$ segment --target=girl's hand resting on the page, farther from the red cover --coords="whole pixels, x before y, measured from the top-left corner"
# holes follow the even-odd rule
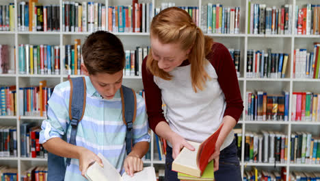
[[[188,143],[185,138],[176,134],[175,132],[170,135],[170,143],[172,144],[172,158],[176,159],[176,156],[180,153],[183,147],[187,147],[191,151],[194,151],[194,147]]]

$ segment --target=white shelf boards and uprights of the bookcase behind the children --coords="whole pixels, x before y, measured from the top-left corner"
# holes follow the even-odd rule
[[[78,1],[81,2],[82,0]],[[188,5],[188,6],[198,6],[206,5],[207,3],[222,3],[226,7],[236,7],[241,8],[240,15],[240,27],[239,34],[206,34],[211,36],[215,41],[223,43],[227,48],[240,49],[241,51],[241,76],[238,78],[239,86],[241,89],[241,95],[243,97],[243,104],[246,108],[245,93],[247,90],[264,90],[267,93],[281,93],[281,90],[289,91],[289,105],[292,105],[291,95],[296,91],[312,91],[312,93],[320,93],[320,79],[296,79],[293,77],[293,53],[295,49],[305,49],[308,51],[312,50],[312,43],[320,41],[320,35],[297,35],[297,34],[248,34],[248,2],[251,3],[266,3],[267,6],[272,7],[276,5],[277,8],[280,5],[291,4],[293,5],[293,12],[295,12],[295,5],[298,5],[299,8],[306,3],[319,4],[318,0],[226,0],[226,1],[217,1],[217,0],[198,0],[198,1],[183,1],[183,0],[172,0],[172,1],[139,1],[143,2],[152,2],[152,10],[158,8],[163,2],[174,2],[176,5]],[[21,0],[14,0],[14,5],[17,7],[18,3]],[[60,6],[60,20],[62,18],[62,0],[39,0],[40,3],[45,5],[56,4]],[[108,5],[131,5],[132,1],[130,0],[95,0],[94,2],[104,3],[106,7]],[[5,0],[0,0],[0,5],[8,4]],[[154,12],[154,11],[152,11]],[[17,8],[15,9],[15,14],[17,14]],[[201,8],[199,8],[199,19],[201,18]],[[108,21],[108,14],[106,14],[106,21]],[[292,17],[295,19],[295,16]],[[293,21],[294,22],[294,21]],[[294,31],[294,23],[291,24],[292,31]],[[17,27],[17,17],[15,16],[15,27]],[[62,27],[62,21],[60,21],[60,27]],[[64,47],[64,45],[70,45],[73,43],[73,40],[76,38],[81,39],[81,43],[84,42],[86,36],[90,32],[64,32],[60,28],[59,32],[21,32],[17,29],[14,29],[12,32],[3,32],[0,31],[0,44],[10,45],[10,69],[14,69],[14,60],[16,60],[16,65],[18,65],[18,55],[14,58],[14,46],[18,47],[19,44],[50,44],[50,45],[59,45]],[[135,49],[135,47],[146,47],[149,45],[149,34],[148,33],[114,33],[121,40],[124,45],[124,49]],[[275,52],[289,53],[289,62],[287,64],[287,69],[285,73],[285,78],[250,78],[246,76],[246,67],[247,67],[247,51],[248,49],[267,49],[271,48]],[[61,52],[60,52],[61,53]],[[60,61],[61,65],[63,62],[64,55],[61,53]],[[63,66],[61,66],[63,67]],[[61,69],[63,70],[63,68]],[[79,75],[70,75],[70,77],[77,77]],[[0,84],[5,86],[16,85],[18,90],[19,87],[23,86],[32,86],[38,85],[40,80],[47,80],[49,86],[54,86],[60,82],[68,80],[69,75],[21,75],[18,74],[18,66],[16,66],[15,73],[0,74]],[[124,76],[123,84],[134,88],[136,91],[142,90],[142,77],[141,76]],[[17,97],[21,99],[21,97]],[[18,108],[19,110],[20,108]],[[17,110],[17,113],[19,112]],[[310,131],[312,136],[319,136],[320,132],[320,122],[297,122],[291,121],[291,106],[289,106],[289,121],[249,121],[248,117],[245,115],[245,109],[237,128],[242,129],[242,134],[245,132],[256,130],[271,130],[271,131],[280,131],[291,137],[291,132],[297,131]],[[44,117],[26,117],[21,115],[16,116],[0,116],[0,125],[5,126],[16,126],[17,128],[17,140],[18,140],[18,157],[16,158],[0,158],[0,165],[8,165],[18,169],[18,175],[21,176],[21,173],[34,165],[46,165],[45,158],[23,158],[21,157],[21,145],[20,145],[20,127],[19,125],[23,121],[34,121],[40,123]],[[151,132],[152,141],[150,143],[151,147],[151,158],[150,160],[145,160],[146,165],[152,165],[155,167],[164,168],[165,162],[163,160],[157,160],[155,153],[157,152],[157,147],[155,145],[155,136]],[[290,141],[290,140],[289,140]],[[290,152],[288,150],[288,156]],[[254,162],[245,162],[244,161],[244,141],[242,141],[242,150],[241,150],[241,173],[248,168],[255,166],[263,169],[274,169],[274,163],[254,163]],[[289,157],[288,157],[289,158]],[[320,169],[320,165],[306,165],[306,164],[292,164],[290,159],[286,163],[276,164],[276,169],[281,169],[281,167],[286,167],[286,172],[289,173],[294,170],[308,171]],[[288,174],[289,175],[289,174]],[[288,179],[287,179],[288,180]]]

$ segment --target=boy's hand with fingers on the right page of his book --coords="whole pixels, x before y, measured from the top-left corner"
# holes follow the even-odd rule
[[[144,162],[138,157],[133,155],[126,156],[124,160],[124,170],[126,174],[133,177],[133,173],[137,171],[142,171],[144,169]]]

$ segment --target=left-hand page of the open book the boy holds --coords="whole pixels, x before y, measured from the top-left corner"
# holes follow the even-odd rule
[[[94,164],[88,168],[85,177],[91,181],[122,181],[114,165],[111,165],[102,154],[99,153],[98,157],[103,161],[103,167],[98,165],[97,162],[94,162]]]

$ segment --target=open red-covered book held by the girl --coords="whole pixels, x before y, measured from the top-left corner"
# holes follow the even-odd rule
[[[215,143],[220,134],[223,123],[209,138],[202,143],[188,141],[196,149],[194,152],[186,147],[182,149],[180,154],[172,162],[172,170],[185,173],[189,176],[201,177],[210,156],[215,152]]]

